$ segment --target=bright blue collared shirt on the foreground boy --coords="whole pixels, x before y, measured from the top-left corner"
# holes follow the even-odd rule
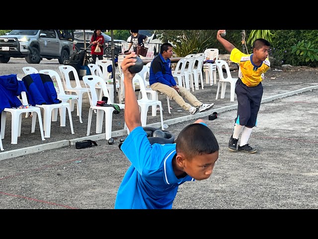
[[[132,163],[117,192],[115,209],[171,209],[178,186],[194,181],[177,178],[172,168],[175,143],[150,144],[142,126],[127,136],[121,150]]]

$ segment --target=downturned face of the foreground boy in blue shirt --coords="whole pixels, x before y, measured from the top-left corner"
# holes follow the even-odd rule
[[[211,176],[219,151],[197,155],[191,160],[183,160],[183,170],[195,180],[207,179]]]

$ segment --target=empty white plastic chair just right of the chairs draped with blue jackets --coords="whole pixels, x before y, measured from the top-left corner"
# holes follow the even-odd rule
[[[56,80],[56,83],[58,85],[58,91],[59,91],[59,92],[57,92],[58,99],[62,102],[70,103],[71,111],[72,111],[72,108],[74,109],[74,101],[76,101],[76,103],[77,103],[77,108],[81,108],[81,105],[79,105],[79,96],[78,95],[65,94],[65,90],[64,90],[63,83],[62,83],[62,80],[61,80],[59,73],[57,73],[54,70],[40,70],[39,73],[47,74],[52,78],[52,80],[53,79]],[[60,111],[60,116],[61,115],[66,116],[66,108],[60,108],[59,111]],[[61,111],[63,111],[63,112],[61,112]],[[79,110],[79,112],[81,113],[81,110]],[[57,117],[58,117],[58,111],[53,110],[52,121],[56,121]],[[65,125],[65,117],[63,120],[64,120],[64,122],[62,124]],[[81,114],[79,115],[79,122],[82,123]]]

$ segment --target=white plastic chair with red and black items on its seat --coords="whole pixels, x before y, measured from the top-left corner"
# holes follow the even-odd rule
[[[83,76],[83,82],[87,89],[88,99],[89,99],[89,113],[88,113],[88,123],[87,123],[87,136],[90,133],[90,125],[93,112],[96,111],[96,133],[101,133],[102,125],[103,125],[103,118],[105,113],[105,139],[111,138],[111,128],[112,128],[112,119],[113,119],[113,111],[115,109],[113,107],[103,107],[103,106],[96,106],[97,104],[97,93],[96,93],[96,85],[99,85],[102,89],[103,95],[108,98],[107,104],[113,104],[110,101],[110,97],[107,91],[106,82],[103,78],[96,75],[91,76]],[[89,90],[89,91],[88,91]],[[119,106],[120,109],[125,109],[124,104],[116,104]],[[126,123],[124,128],[126,127]]]

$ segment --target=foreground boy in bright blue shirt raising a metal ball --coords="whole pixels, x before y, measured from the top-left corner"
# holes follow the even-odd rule
[[[175,143],[151,145],[141,126],[139,106],[132,85],[136,53],[122,62],[125,84],[125,122],[130,131],[121,150],[132,163],[115,201],[115,209],[172,209],[178,186],[211,176],[219,145],[202,119],[186,126]],[[190,136],[190,137],[189,137]]]

